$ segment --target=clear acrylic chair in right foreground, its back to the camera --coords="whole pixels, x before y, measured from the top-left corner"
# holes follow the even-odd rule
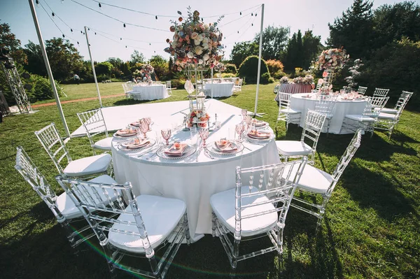
[[[283,229],[290,201],[306,164],[302,160],[237,167],[236,187],[210,198],[213,236],[218,235],[230,265],[267,252],[283,252]],[[267,236],[271,244],[258,251],[244,251],[241,242]]]

